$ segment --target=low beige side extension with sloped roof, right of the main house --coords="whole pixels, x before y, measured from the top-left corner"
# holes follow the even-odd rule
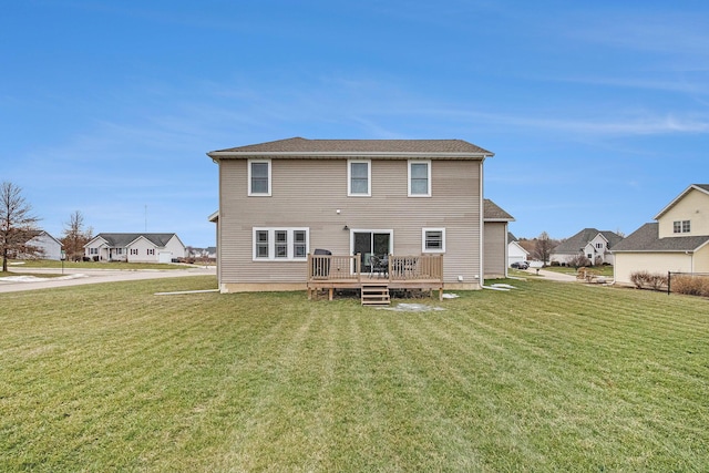
[[[507,226],[514,217],[486,198],[483,202],[485,279],[507,277]]]

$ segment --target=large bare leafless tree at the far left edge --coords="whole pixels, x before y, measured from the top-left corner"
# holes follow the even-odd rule
[[[2,271],[8,270],[11,255],[39,255],[41,249],[28,241],[37,235],[40,219],[32,214],[32,206],[22,197],[22,189],[10,183],[0,185],[0,253]]]

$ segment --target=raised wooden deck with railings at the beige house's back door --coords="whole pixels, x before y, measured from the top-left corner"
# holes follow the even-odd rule
[[[362,284],[387,282],[389,289],[438,290],[443,298],[443,255],[389,255],[386,266],[362,271],[361,255],[308,255],[308,299],[328,290],[362,289]]]

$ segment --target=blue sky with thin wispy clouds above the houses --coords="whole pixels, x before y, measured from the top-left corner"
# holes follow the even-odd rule
[[[292,136],[475,143],[518,237],[709,183],[705,1],[23,0],[0,60],[0,181],[58,237],[214,245],[205,153]]]

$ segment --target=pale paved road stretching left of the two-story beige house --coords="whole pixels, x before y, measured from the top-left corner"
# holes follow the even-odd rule
[[[28,274],[61,274],[61,269],[22,268]],[[216,275],[214,266],[191,266],[185,269],[64,269],[64,276],[42,278],[28,276],[10,276],[0,278],[0,292],[20,290],[49,289],[55,287],[79,286],[84,284],[130,281],[138,279],[178,278],[186,276]]]

